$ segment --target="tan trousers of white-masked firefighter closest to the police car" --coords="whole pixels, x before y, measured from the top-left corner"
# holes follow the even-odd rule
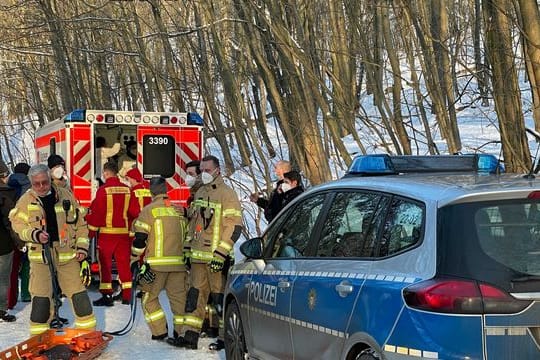
[[[190,286],[186,302],[196,304],[195,310],[186,312],[186,330],[200,332],[206,315],[208,296],[223,294],[225,283],[221,272],[212,272],[206,263],[192,263]],[[216,306],[210,304],[209,306]]]

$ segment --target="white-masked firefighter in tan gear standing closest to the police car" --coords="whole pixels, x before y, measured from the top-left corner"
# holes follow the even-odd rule
[[[224,276],[222,271],[234,242],[242,231],[242,212],[238,196],[221,177],[219,160],[206,156],[200,164],[203,186],[189,208],[189,241],[184,246],[191,262],[190,289],[186,298],[186,332],[167,342],[197,349],[208,296],[221,318]],[[211,344],[212,345],[212,344]],[[211,346],[219,350],[221,340]]]

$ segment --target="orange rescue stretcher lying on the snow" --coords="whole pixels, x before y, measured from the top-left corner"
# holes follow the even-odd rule
[[[112,338],[101,331],[50,329],[0,352],[0,360],[95,359]]]

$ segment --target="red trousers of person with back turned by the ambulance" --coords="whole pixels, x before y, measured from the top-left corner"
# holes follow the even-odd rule
[[[98,239],[99,291],[102,294],[113,293],[112,260],[116,262],[118,278],[122,285],[122,300],[131,300],[131,241],[128,234],[100,234]]]

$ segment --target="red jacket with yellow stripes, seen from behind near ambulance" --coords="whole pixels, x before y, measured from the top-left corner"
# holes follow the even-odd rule
[[[110,177],[99,187],[90,204],[86,221],[91,232],[127,235],[130,189],[118,177]]]

